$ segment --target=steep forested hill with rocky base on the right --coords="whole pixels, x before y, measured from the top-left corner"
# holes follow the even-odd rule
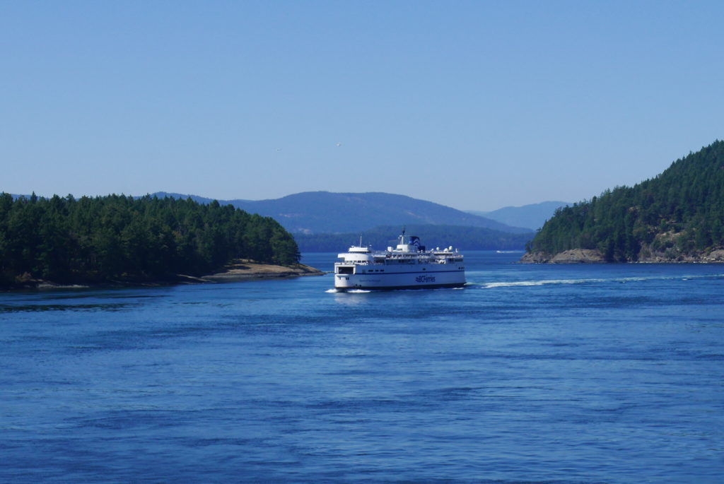
[[[724,142],[560,208],[523,262],[724,262]]]

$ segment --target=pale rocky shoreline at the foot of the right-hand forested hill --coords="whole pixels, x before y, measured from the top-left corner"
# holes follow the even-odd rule
[[[520,263],[524,264],[581,264],[607,263],[602,253],[595,249],[571,249],[548,254],[546,252],[527,252]],[[652,252],[642,250],[638,260],[632,263],[724,263],[724,249],[715,249],[699,253]]]

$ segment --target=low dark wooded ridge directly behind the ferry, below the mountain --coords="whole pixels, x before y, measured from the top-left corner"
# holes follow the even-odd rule
[[[460,250],[523,250],[533,232],[511,234],[484,227],[450,225],[408,225],[408,235],[417,235],[428,249],[449,247]],[[371,245],[375,250],[397,244],[400,226],[377,226],[348,234],[294,234],[300,252],[344,252],[350,245]]]

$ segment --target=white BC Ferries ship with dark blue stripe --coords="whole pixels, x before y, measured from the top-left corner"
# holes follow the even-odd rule
[[[465,285],[463,255],[451,247],[425,250],[419,237],[405,239],[397,247],[374,252],[370,247],[353,245],[337,255],[334,263],[334,289],[424,289]]]

